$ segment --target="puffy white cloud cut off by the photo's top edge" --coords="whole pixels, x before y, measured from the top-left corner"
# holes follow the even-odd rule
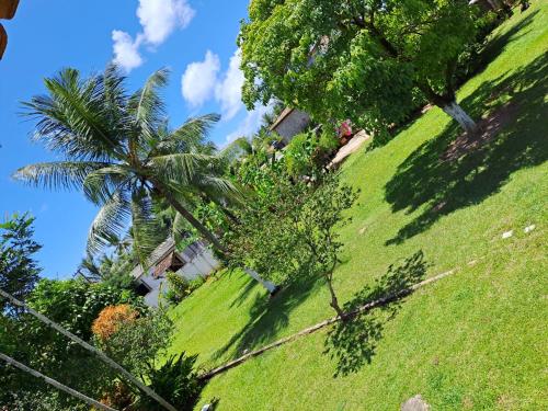
[[[186,0],[139,0],[137,8],[145,41],[152,45],[163,43],[176,27],[186,27],[195,14]]]

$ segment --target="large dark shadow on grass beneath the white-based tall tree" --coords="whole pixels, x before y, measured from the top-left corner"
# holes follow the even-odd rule
[[[479,118],[482,132],[463,135],[452,122],[397,169],[385,186],[392,212],[419,208],[419,217],[387,244],[401,243],[459,208],[496,193],[510,175],[548,159],[548,56],[511,75],[486,81],[461,105]]]

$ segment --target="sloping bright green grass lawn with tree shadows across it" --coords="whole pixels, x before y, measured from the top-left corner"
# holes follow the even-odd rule
[[[516,11],[458,98],[494,138],[466,148],[433,109],[343,167],[361,196],[342,231],[341,301],[418,251],[426,276],[459,270],[368,315],[336,344],[323,330],[213,378],[199,404],[398,410],[421,393],[433,410],[548,410],[548,2]],[[209,368],[332,315],[321,283],[269,300],[244,275],[225,274],[172,310],[171,350]]]

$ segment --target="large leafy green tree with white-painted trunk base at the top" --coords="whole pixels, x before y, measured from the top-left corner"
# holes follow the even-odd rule
[[[403,121],[418,91],[467,132],[455,71],[476,36],[466,0],[251,0],[239,46],[248,107],[272,98],[374,132]]]

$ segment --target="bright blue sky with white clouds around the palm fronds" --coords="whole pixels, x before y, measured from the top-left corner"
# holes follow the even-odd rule
[[[116,59],[129,88],[160,67],[171,69],[164,96],[173,126],[187,116],[220,113],[212,139],[249,135],[264,112],[240,102],[236,46],[248,0],[32,0],[2,21],[9,44],[0,60],[0,218],[14,212],[36,217],[43,275],[71,275],[84,252],[95,208],[78,192],[47,192],[11,180],[19,167],[55,157],[28,136],[33,123],[18,115],[21,101],[44,92],[42,79],[62,67],[83,73]]]

